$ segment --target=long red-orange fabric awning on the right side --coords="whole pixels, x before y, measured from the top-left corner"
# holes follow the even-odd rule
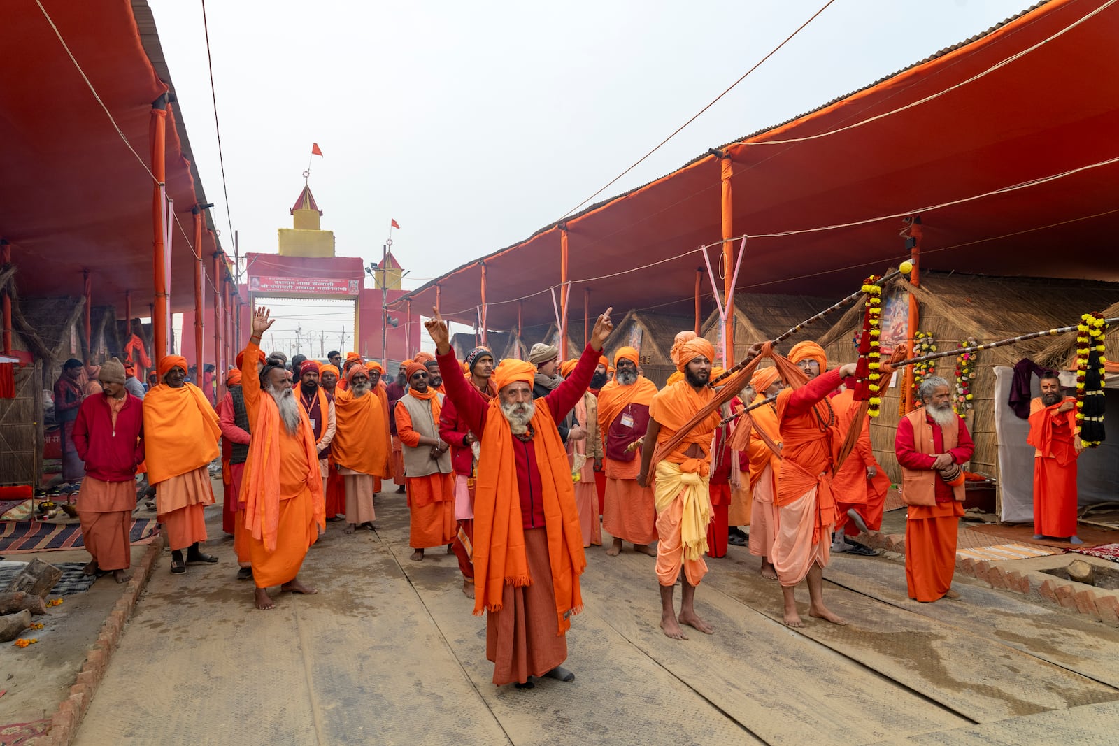
[[[1104,83],[1119,79],[1119,4],[1104,6],[1051,0],[721,149],[734,161],[734,230],[752,236],[736,289],[844,295],[908,255],[900,217],[848,224],[913,213],[928,268],[1119,280],[1119,252],[1103,248],[1119,232],[1119,162],[1100,166],[1119,159],[1119,96]],[[692,249],[721,239],[718,158],[565,223],[572,298],[590,287],[595,312],[688,313],[704,265]],[[846,227],[812,230],[835,225]],[[548,226],[483,257],[491,329],[515,328],[526,295],[526,327],[554,319],[558,234]],[[707,251],[717,265],[718,246]],[[405,299],[427,312],[438,283],[443,315],[472,323],[479,274],[472,262]]]

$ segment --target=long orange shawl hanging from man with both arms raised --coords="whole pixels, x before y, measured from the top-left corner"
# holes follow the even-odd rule
[[[544,488],[544,526],[548,537],[552,587],[560,634],[571,626],[570,614],[583,611],[579,576],[586,568],[583,529],[575,508],[567,451],[560,440],[552,410],[536,399],[533,415],[536,468]],[[474,492],[474,614],[501,611],[505,584],[526,586],[533,578],[525,558],[525,533],[517,494],[517,463],[513,431],[499,399],[490,399],[478,462]]]

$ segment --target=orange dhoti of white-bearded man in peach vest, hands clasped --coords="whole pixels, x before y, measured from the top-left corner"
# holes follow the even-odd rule
[[[905,585],[910,598],[937,601],[952,586],[963,503],[910,506],[905,521]]]

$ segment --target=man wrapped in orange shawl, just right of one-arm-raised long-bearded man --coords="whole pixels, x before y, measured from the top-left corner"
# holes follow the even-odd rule
[[[347,372],[349,388],[335,396],[335,440],[330,444],[335,465],[346,481],[346,530],[374,529],[374,479],[387,478],[391,443],[388,412],[373,389],[369,370],[352,366]]]

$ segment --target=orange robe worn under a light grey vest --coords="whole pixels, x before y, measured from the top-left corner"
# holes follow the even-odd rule
[[[434,389],[429,391],[435,394]],[[405,397],[413,394],[406,394]],[[440,397],[432,396],[432,426],[436,432],[441,410]],[[420,433],[412,427],[412,414],[401,402],[396,403],[396,433],[406,448],[429,447],[420,445]],[[458,533],[454,520],[454,472],[435,472],[405,479],[408,488],[408,546],[413,549],[429,549],[454,541]]]

